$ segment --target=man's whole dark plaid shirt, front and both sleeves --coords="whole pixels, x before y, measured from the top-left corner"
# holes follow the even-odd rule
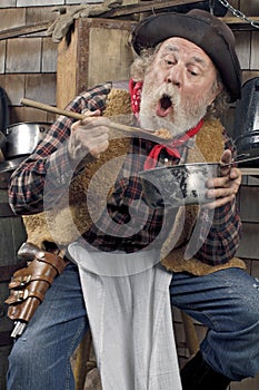
[[[110,89],[109,82],[94,87],[78,96],[67,109],[77,113],[86,108],[103,110]],[[34,153],[13,173],[9,199],[17,214],[42,212],[47,203],[57,202],[62,187],[68,185],[73,169],[68,158],[66,140],[70,136],[73,121],[68,117],[59,117]],[[180,163],[195,140],[190,139],[188,143],[179,148],[182,156]],[[142,199],[138,175],[143,169],[143,163],[153,145],[152,140],[131,139],[131,146],[114,184],[114,192],[109,197],[107,212],[82,235],[82,242],[87,241],[93,247],[106,252],[131,253],[146,247],[161,247],[173,225],[176,209],[149,208]],[[227,136],[226,148],[232,148]],[[173,164],[179,164],[179,160],[175,159]],[[196,232],[196,257],[207,264],[219,265],[228,262],[236,253],[240,241],[240,218],[235,202],[213,211],[212,225],[209,213],[203,209],[199,215],[202,223],[198,235]]]

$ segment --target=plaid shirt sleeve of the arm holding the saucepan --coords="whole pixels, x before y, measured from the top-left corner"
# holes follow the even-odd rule
[[[227,133],[223,135],[226,139],[225,148],[230,149],[236,156],[236,147],[232,140]],[[199,250],[196,257],[210,265],[227,263],[235,256],[241,237],[241,221],[236,199],[216,208],[213,216],[210,215],[208,209],[205,209],[200,218],[203,223],[197,240]],[[210,228],[207,224],[209,226],[211,224]]]

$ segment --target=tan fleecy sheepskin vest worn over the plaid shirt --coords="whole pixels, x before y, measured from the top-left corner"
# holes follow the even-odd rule
[[[110,116],[129,113],[131,113],[129,94],[124,90],[112,89],[108,96],[103,115]],[[123,162],[123,156],[127,154],[129,147],[130,138],[121,138],[121,134],[117,135],[116,131],[112,133],[109,148],[101,154],[100,158],[89,164],[87,169],[72,181],[69,189],[69,204],[67,198],[63,197],[54,209],[23,216],[28,242],[41,248],[46,248],[47,243],[57,243],[58,245],[66,246],[90,228],[92,214],[90,216],[86,202],[90,182],[96,174],[99,175],[97,181],[99,188],[94,187],[94,199],[92,199],[92,204],[98,204],[98,208],[101,209],[106,206],[103,193],[109,194],[110,185],[114,183]],[[213,148],[211,148],[211,139],[213,139]],[[206,121],[197,135],[195,148],[189,152],[188,162],[219,162],[222,150],[223,137],[221,124],[219,120]],[[100,174],[100,168],[103,164],[114,158],[118,158],[120,163],[116,164],[116,167],[112,167],[109,173],[106,170],[103,175]],[[89,201],[91,199],[88,198],[88,203]],[[183,207],[179,208],[172,231],[162,247],[162,265],[170,271],[188,271],[196,275],[210,273],[228,266],[245,267],[243,262],[239,259],[233,259],[229,263],[217,267],[203,264],[195,257],[185,259],[186,243],[191,235],[198,211],[198,206],[187,206],[185,209]],[[169,252],[167,247],[170,238],[176,234],[178,223],[180,223],[183,215],[185,228],[176,248]]]

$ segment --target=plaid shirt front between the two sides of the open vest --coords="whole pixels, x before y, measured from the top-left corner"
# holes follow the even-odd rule
[[[98,224],[82,236],[81,243],[104,252],[137,252],[162,244],[163,211],[151,209],[142,198],[139,172],[143,169],[151,142],[132,138],[114,189]],[[163,240],[166,237],[163,236]]]

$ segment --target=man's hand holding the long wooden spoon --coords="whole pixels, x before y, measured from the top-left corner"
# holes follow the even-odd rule
[[[100,117],[100,111],[88,111],[86,119],[76,121],[71,127],[68,142],[69,158],[79,165],[82,159],[99,158],[109,146],[109,119]]]

